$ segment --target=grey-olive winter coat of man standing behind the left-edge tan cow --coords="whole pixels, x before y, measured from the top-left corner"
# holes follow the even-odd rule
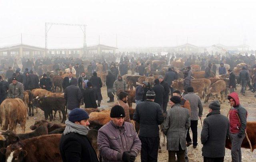
[[[23,99],[24,97],[24,88],[23,88],[23,84],[20,82],[17,82],[15,85],[13,83],[11,83],[9,85],[9,89],[8,89],[8,94],[7,97],[8,98],[20,98]]]

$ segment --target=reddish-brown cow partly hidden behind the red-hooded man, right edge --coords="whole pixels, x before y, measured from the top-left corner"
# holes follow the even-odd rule
[[[247,122],[246,123],[246,132],[248,135],[248,138],[252,144],[252,152],[254,149],[256,149],[256,122]],[[244,138],[242,145],[242,148],[250,148],[250,145],[246,139]],[[231,149],[231,141],[230,139],[226,139],[226,148]]]

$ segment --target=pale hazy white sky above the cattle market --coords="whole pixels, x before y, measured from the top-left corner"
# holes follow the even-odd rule
[[[87,44],[246,44],[256,49],[255,0],[0,0],[0,46],[44,47],[45,22],[87,25]],[[12,36],[12,37],[10,37]],[[6,38],[8,37],[8,38]],[[48,48],[82,47],[78,26],[52,26]]]

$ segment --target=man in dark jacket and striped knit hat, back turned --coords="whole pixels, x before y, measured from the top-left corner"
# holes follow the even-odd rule
[[[136,105],[133,115],[133,120],[140,124],[141,162],[157,162],[160,144],[158,125],[164,122],[164,117],[160,105],[154,102],[155,97],[155,92],[149,90],[146,94],[147,99]]]

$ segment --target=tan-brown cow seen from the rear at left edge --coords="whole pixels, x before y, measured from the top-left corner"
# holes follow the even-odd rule
[[[7,98],[0,106],[0,121],[2,130],[9,130],[16,132],[17,123],[22,128],[22,133],[25,132],[27,109],[24,102],[19,98]]]

